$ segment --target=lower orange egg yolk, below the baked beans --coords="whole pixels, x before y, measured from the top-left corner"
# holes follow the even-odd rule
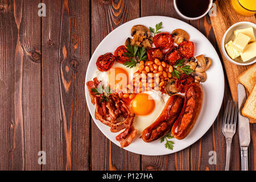
[[[131,101],[131,109],[137,115],[148,115],[155,109],[155,101],[150,95],[139,93]]]

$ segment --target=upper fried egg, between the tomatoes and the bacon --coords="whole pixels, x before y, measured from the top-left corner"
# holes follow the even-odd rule
[[[102,82],[102,85],[109,85],[112,90],[122,89],[133,79],[133,74],[138,71],[138,65],[134,68],[127,68],[125,65],[115,62],[107,72],[98,70],[94,72],[93,78],[97,77],[98,81]]]

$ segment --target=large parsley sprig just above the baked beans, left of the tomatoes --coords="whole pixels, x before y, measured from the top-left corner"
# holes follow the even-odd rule
[[[147,59],[146,49],[144,47],[139,48],[137,46],[128,44],[126,50],[127,52],[125,52],[125,55],[130,57],[130,59],[129,61],[123,63],[123,65],[125,65],[127,68],[136,67],[139,61]]]

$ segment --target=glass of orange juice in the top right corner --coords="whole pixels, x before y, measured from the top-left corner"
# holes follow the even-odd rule
[[[253,16],[256,13],[255,0],[231,0],[231,3],[237,13],[243,16]]]

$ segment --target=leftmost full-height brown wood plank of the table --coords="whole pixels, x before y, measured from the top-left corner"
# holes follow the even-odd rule
[[[0,170],[40,170],[39,1],[0,1]]]

